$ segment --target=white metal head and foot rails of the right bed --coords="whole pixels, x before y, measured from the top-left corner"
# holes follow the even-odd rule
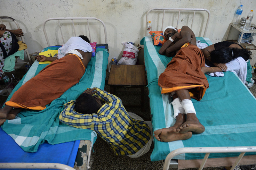
[[[179,17],[181,14],[181,11],[193,11],[193,18],[192,18],[192,22],[191,22],[191,29],[193,27],[193,22],[194,22],[194,16],[195,16],[195,11],[205,11],[208,13],[208,18],[207,18],[207,22],[206,22],[206,26],[205,26],[205,31],[203,36],[206,36],[207,33],[207,28],[209,25],[209,20],[210,20],[210,11],[207,9],[193,9],[193,8],[152,8],[149,11],[147,11],[146,14],[146,26],[147,23],[149,22],[149,13],[153,10],[162,10],[163,11],[163,16],[162,16],[162,26],[161,26],[161,30],[163,30],[163,23],[164,23],[164,18],[165,18],[165,11],[167,10],[171,10],[171,11],[178,11],[178,17],[177,17],[177,25],[176,27],[178,27],[179,24]],[[203,23],[202,23],[203,24]],[[145,28],[145,36],[147,36],[147,28]],[[172,152],[170,152],[165,159],[165,163],[164,163],[164,170],[171,168],[178,168],[178,160],[173,159],[174,156],[177,156],[179,154],[184,154],[184,153],[206,153],[205,157],[200,165],[199,170],[202,170],[210,153],[230,153],[230,152],[238,152],[240,153],[240,155],[238,156],[238,158],[235,160],[234,164],[231,167],[231,170],[233,170],[241,161],[241,159],[243,158],[243,155],[246,152],[256,152],[256,146],[241,146],[241,147],[184,147],[184,148],[179,148],[177,150],[174,150]]]

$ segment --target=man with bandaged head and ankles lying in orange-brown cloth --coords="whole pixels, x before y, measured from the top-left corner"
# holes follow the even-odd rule
[[[177,53],[159,76],[158,85],[162,87],[161,93],[170,94],[173,98],[171,103],[176,123],[172,127],[155,130],[154,136],[158,141],[171,142],[189,139],[192,132],[200,134],[205,131],[196,116],[191,97],[201,100],[209,84],[201,71],[205,59],[197,47],[193,31],[183,26],[180,33],[177,33],[176,28],[167,28],[163,34],[169,40],[163,44],[159,53],[167,56],[174,51]]]

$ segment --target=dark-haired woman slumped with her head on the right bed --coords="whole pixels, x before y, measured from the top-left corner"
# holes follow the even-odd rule
[[[243,49],[240,44],[229,41],[218,42],[206,47],[202,52],[205,56],[205,63],[209,66],[202,68],[204,73],[210,73],[210,76],[224,76],[223,73],[218,72],[232,71],[248,87],[253,85],[249,63],[252,53]]]

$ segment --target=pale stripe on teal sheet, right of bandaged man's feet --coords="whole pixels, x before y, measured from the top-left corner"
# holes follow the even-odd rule
[[[201,134],[193,134],[197,136],[203,135],[224,135],[232,133],[249,133],[256,131],[256,123],[241,124],[241,125],[219,125],[219,126],[205,126],[205,131]],[[225,129],[225,130],[223,130]]]

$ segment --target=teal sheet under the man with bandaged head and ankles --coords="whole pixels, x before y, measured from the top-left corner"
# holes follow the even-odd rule
[[[211,45],[208,38],[199,37],[202,43]],[[158,77],[172,59],[158,53],[160,46],[154,46],[151,37],[141,40],[144,45],[145,67],[149,88],[153,131],[173,126],[173,109],[170,97],[161,94]],[[192,99],[197,117],[205,126],[202,134],[193,134],[190,139],[174,142],[160,142],[154,139],[151,161],[165,160],[167,154],[182,147],[255,146],[256,99],[231,72],[224,77],[206,75],[209,88],[201,101]],[[246,153],[246,155],[256,153]],[[174,159],[203,159],[205,154],[181,154]],[[212,153],[209,158],[238,156],[238,153]]]

